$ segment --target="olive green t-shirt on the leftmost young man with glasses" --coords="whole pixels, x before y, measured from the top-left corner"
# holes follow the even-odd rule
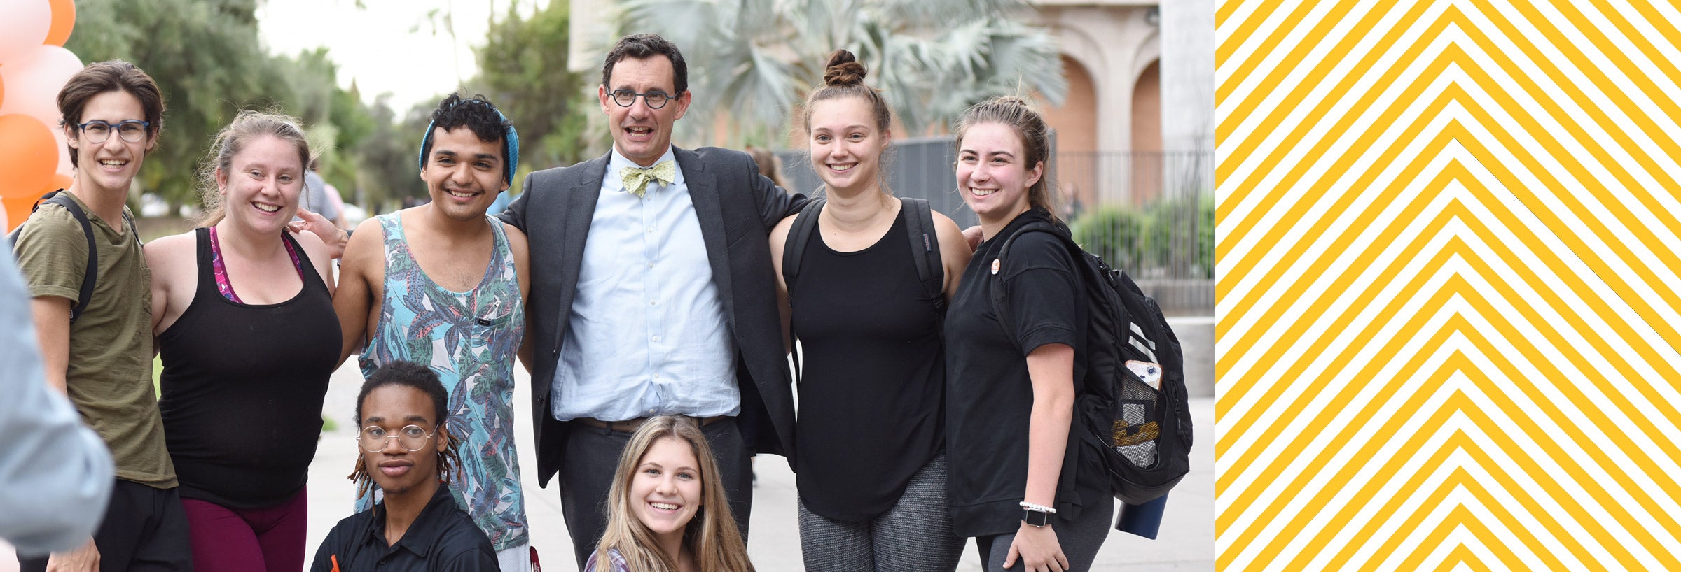
[[[133,230],[118,233],[72,198],[92,223],[99,275],[87,309],[71,324],[66,389],[82,423],[111,448],[116,478],[171,488],[175,465],[151,387],[151,268]],[[81,302],[87,235],[69,210],[42,205],[24,223],[12,250],[32,297]]]

